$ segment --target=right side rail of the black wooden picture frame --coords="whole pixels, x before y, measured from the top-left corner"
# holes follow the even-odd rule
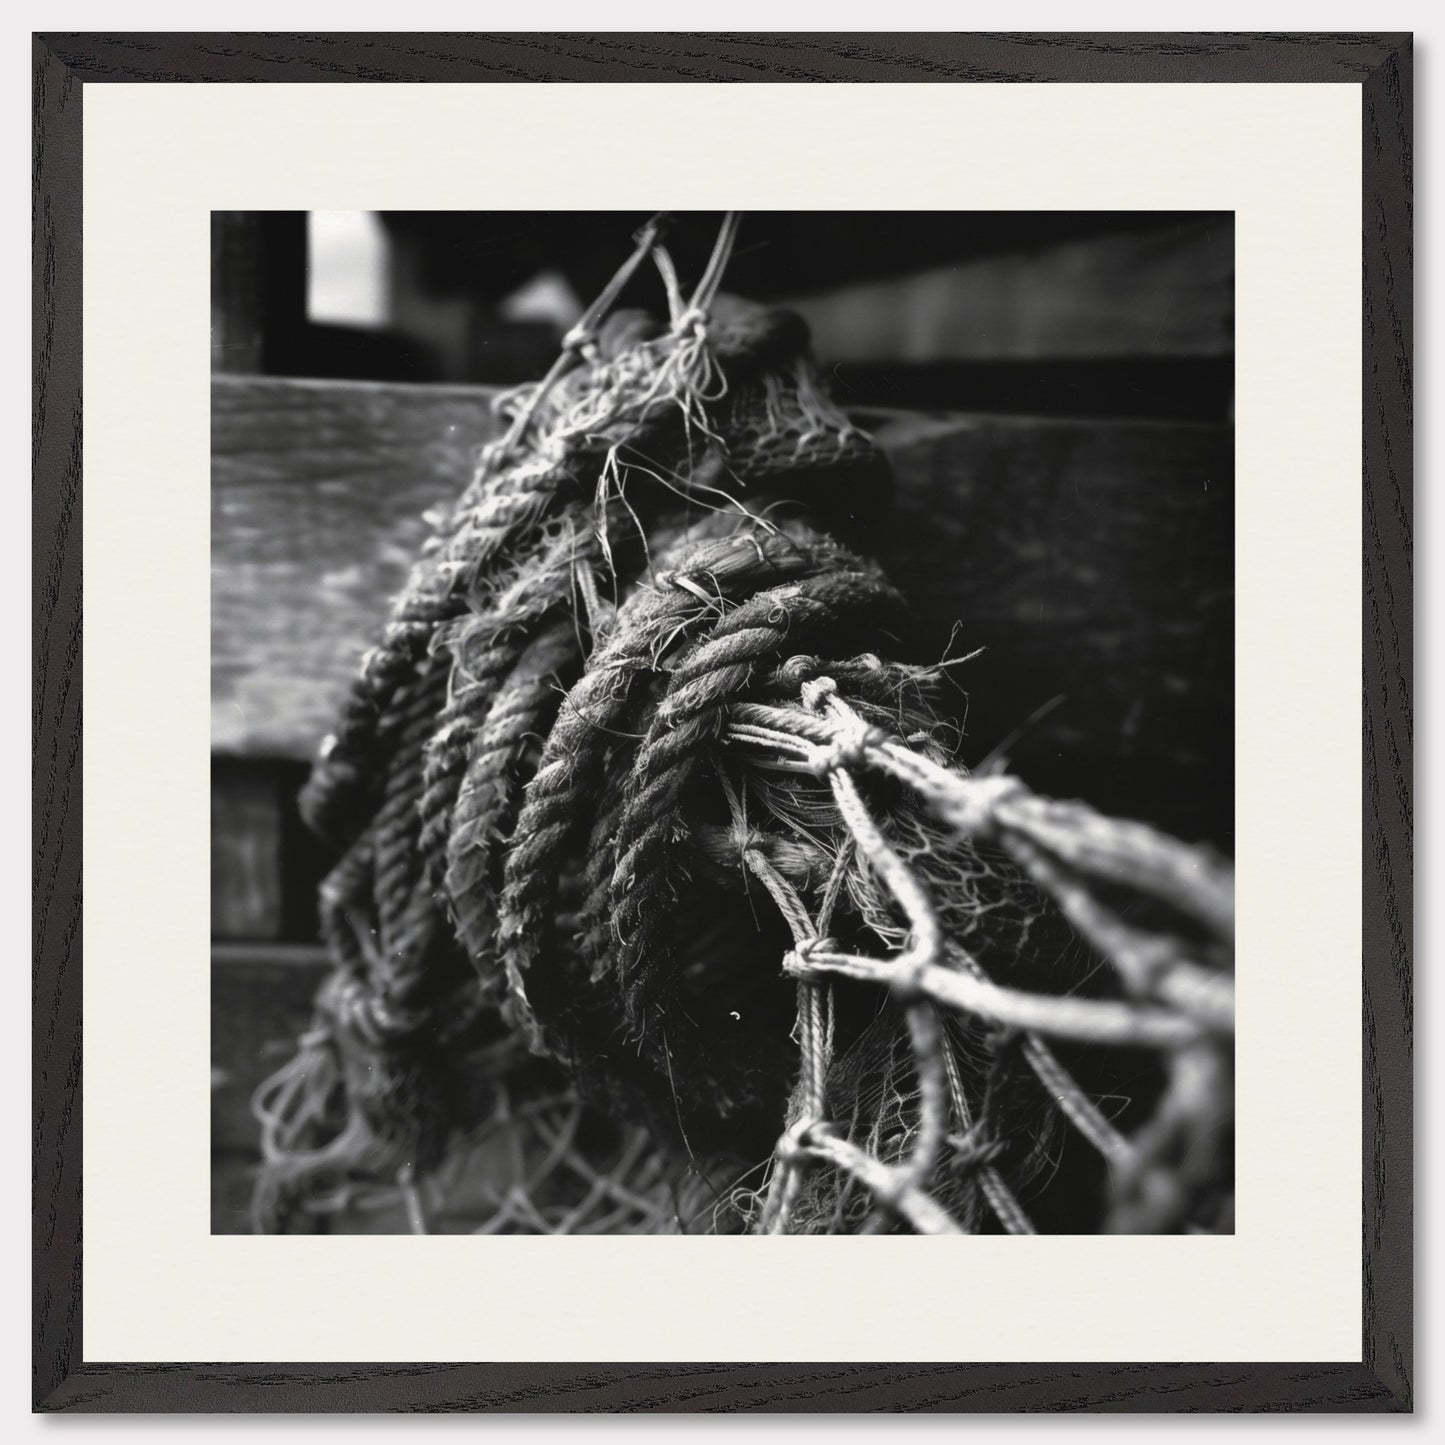
[[[1364,1361],[1412,1399],[1413,64],[1364,85]]]

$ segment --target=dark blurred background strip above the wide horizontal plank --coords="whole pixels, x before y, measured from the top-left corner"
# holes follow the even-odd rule
[[[539,376],[646,220],[218,212],[218,370]],[[753,212],[725,285],[801,311],[845,406],[1212,422],[1233,396],[1230,212]],[[682,214],[683,283],[717,218]],[[657,303],[650,270],[623,302]]]

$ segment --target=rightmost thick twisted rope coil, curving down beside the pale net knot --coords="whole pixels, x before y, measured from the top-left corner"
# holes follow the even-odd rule
[[[842,558],[837,559],[847,566]],[[769,588],[724,613],[672,672],[627,780],[617,834],[613,909],[617,970],[634,1025],[653,1001],[670,954],[669,853],[678,803],[721,736],[727,704],[757,665],[811,634],[877,627],[903,610],[902,595],[876,572],[837,571]]]

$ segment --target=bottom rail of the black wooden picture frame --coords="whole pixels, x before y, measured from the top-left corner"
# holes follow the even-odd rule
[[[165,1402],[165,1403],[162,1403]],[[1364,1413],[1361,1364],[85,1364],[77,1412]]]

